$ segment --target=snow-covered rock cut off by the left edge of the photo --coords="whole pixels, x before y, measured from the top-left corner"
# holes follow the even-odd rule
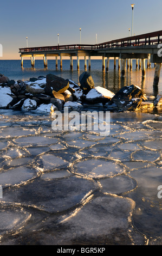
[[[11,89],[9,87],[0,86],[0,108],[8,107],[9,103],[13,100],[11,94]]]

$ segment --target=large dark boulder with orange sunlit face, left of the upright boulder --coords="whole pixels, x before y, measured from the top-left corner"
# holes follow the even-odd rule
[[[53,95],[53,90],[57,93],[63,93],[69,88],[69,82],[64,80],[62,77],[48,74],[46,76],[46,88],[45,93]]]

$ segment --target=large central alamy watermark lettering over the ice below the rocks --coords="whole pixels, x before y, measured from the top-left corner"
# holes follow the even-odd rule
[[[64,112],[55,111],[52,129],[54,131],[95,131],[100,136],[108,136],[110,132],[110,112],[106,111],[71,111],[64,107]]]

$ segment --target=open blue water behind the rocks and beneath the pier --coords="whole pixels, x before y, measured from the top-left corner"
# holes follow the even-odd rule
[[[147,65],[147,61],[146,61]],[[60,66],[58,60],[58,68]],[[88,66],[88,62],[87,62]],[[162,93],[162,71],[158,88],[153,88],[154,64],[151,68],[146,68],[146,77],[142,78],[141,70],[135,68],[135,60],[133,60],[132,70],[126,70],[126,75],[121,78],[120,71],[118,71],[118,60],[116,61],[116,70],[113,67],[113,60],[109,63],[109,72],[102,72],[102,60],[91,60],[90,74],[93,77],[95,86],[103,86],[112,92],[117,92],[121,87],[136,84],[141,87],[146,95],[157,95]],[[31,68],[30,60],[24,60],[23,69],[21,68],[21,60],[0,60],[0,74],[8,76],[9,79],[17,81],[29,80],[30,77],[46,76],[51,73],[64,79],[70,79],[74,82],[79,82],[79,76],[84,72],[84,60],[80,60],[80,70],[76,70],[76,60],[73,60],[73,71],[70,70],[69,60],[63,60],[62,70],[55,69],[55,60],[48,60],[48,69],[43,68],[43,60],[35,60],[35,68]],[[88,71],[89,72],[89,71]]]

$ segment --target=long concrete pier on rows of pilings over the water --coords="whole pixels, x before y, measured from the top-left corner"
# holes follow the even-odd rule
[[[126,68],[132,70],[132,59],[136,59],[136,68],[141,69],[143,77],[146,76],[147,68],[154,63],[154,81],[153,86],[158,85],[162,57],[158,56],[158,45],[162,42],[162,31],[146,33],[141,35],[129,36],[127,38],[116,39],[112,41],[102,42],[100,44],[73,44],[73,45],[56,45],[42,47],[26,47],[20,48],[21,66],[23,68],[23,60],[30,57],[31,67],[34,68],[35,57],[42,57],[44,68],[48,68],[47,58],[54,57],[56,60],[56,69],[58,69],[57,60],[60,58],[60,70],[62,70],[63,57],[70,58],[70,69],[73,70],[73,58],[77,58],[77,70],[80,68],[80,57],[85,59],[85,70],[90,70],[91,57],[102,57],[102,70],[109,69],[109,59],[114,59],[114,69],[118,67],[121,76],[125,76]],[[161,46],[162,47],[162,46]],[[162,51],[161,51],[162,52]],[[116,65],[118,60],[118,66]]]

